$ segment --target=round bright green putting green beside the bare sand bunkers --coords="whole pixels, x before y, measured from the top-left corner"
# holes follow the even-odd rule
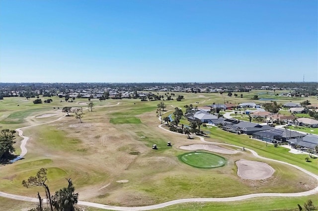
[[[204,152],[186,153],[181,155],[179,159],[188,165],[198,168],[217,168],[224,166],[227,161],[221,156]]]

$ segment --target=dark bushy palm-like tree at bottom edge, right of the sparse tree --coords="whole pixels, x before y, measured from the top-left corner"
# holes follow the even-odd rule
[[[52,197],[52,204],[57,211],[75,211],[74,205],[78,203],[79,194],[74,193],[72,180],[68,179],[69,186],[56,191]]]

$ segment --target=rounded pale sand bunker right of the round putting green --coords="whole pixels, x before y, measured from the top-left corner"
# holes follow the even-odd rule
[[[275,172],[275,169],[266,162],[240,159],[236,164],[238,176],[242,179],[267,179]]]

